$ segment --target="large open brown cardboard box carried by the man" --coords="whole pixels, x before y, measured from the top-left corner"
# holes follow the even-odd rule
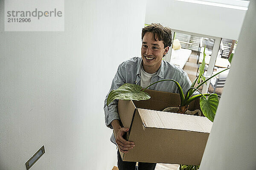
[[[128,153],[120,152],[122,160],[200,165],[212,122],[204,116],[163,112],[180,104],[179,94],[146,92],[151,99],[118,102],[122,126],[130,129],[124,138],[135,144]],[[189,105],[189,110],[198,108],[199,100]]]

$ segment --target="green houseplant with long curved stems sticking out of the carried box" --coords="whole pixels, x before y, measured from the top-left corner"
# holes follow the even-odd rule
[[[163,79],[163,80],[154,82],[151,85],[154,85],[155,83],[159,83],[159,82],[163,82],[163,81],[175,82],[175,84],[177,85],[179,94],[180,94],[180,105],[179,105],[177,113],[185,113],[188,110],[189,103],[195,99],[200,98],[200,108],[201,108],[204,116],[206,116],[210,121],[213,122],[216,110],[218,108],[218,95],[217,94],[202,94],[201,91],[198,90],[198,88],[201,87],[201,85],[206,83],[208,80],[212,79],[212,77],[215,77],[216,75],[218,75],[221,72],[226,71],[227,69],[230,69],[230,68],[224,69],[223,71],[220,71],[217,74],[214,74],[213,76],[209,77],[208,79],[205,79],[205,77],[204,77],[205,56],[206,56],[206,54],[205,54],[205,48],[204,48],[204,59],[199,67],[199,75],[198,75],[198,77],[195,78],[195,80],[193,81],[191,87],[186,92],[186,94],[183,93],[183,90],[180,87],[179,83],[174,79]],[[195,87],[196,82],[198,82],[198,85]],[[148,85],[148,87],[150,87],[151,85]],[[145,89],[147,89],[148,87],[146,87]],[[145,89],[143,89],[140,85],[125,83],[124,85],[120,86],[118,89],[113,90],[109,93],[108,99],[107,99],[107,105],[109,105],[115,99],[122,99],[122,100],[147,100],[147,99],[150,99],[149,94],[144,92]],[[192,94],[195,91],[198,91],[199,94],[192,96]]]

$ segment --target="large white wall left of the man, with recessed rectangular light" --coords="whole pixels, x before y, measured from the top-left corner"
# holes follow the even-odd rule
[[[118,65],[140,56],[146,2],[66,0],[64,32],[5,32],[0,0],[0,170],[110,170],[103,102]]]

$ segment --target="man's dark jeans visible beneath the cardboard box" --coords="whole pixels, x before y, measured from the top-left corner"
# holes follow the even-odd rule
[[[157,163],[139,162],[138,170],[154,170]],[[117,166],[119,170],[135,170],[136,162],[122,161],[119,150],[117,150]]]

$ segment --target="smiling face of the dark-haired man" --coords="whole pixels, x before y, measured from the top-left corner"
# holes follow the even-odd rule
[[[157,72],[162,63],[163,55],[169,50],[169,46],[164,48],[163,41],[154,40],[152,32],[146,32],[141,47],[141,57],[143,59],[143,69],[149,74]]]

